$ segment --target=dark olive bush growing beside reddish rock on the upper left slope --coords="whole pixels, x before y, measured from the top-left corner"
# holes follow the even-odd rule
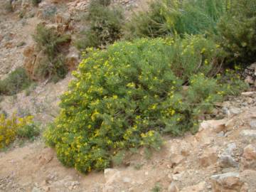
[[[53,28],[46,28],[38,24],[36,34],[33,36],[40,50],[47,55],[35,69],[36,75],[43,78],[51,78],[54,81],[65,78],[68,67],[65,65],[61,47],[70,43],[69,35],[60,35]]]

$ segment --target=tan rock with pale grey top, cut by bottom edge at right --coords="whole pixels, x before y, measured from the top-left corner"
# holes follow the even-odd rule
[[[226,174],[213,175],[210,177],[215,192],[240,192],[243,182],[240,174],[229,172]]]

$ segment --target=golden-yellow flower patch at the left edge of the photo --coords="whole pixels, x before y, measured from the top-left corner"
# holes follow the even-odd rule
[[[17,117],[13,114],[7,119],[4,114],[0,114],[0,149],[4,146],[8,146],[17,137],[17,132],[33,121],[33,116]]]

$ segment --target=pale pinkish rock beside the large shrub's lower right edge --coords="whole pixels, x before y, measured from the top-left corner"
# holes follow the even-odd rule
[[[227,122],[227,119],[220,119],[220,120],[208,120],[203,121],[200,124],[199,132],[203,129],[210,129],[215,133],[224,131],[225,129],[225,122]]]

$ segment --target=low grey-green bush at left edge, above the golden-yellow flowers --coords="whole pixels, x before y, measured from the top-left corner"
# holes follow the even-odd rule
[[[26,89],[31,84],[31,80],[26,74],[24,68],[16,68],[7,78],[0,80],[0,94],[14,95],[21,90]]]

